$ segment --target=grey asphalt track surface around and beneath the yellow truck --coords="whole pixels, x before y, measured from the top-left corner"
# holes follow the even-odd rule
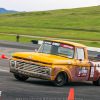
[[[5,54],[10,57],[12,52],[32,52],[39,46],[0,40],[0,56]],[[90,57],[99,54],[88,52]],[[100,100],[100,87],[92,82],[69,82],[63,87],[55,87],[48,81],[36,78],[22,82],[9,72],[9,60],[0,59],[1,100],[67,100],[70,88],[74,88],[75,100]]]

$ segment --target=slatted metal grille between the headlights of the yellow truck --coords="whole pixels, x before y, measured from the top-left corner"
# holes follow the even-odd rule
[[[17,66],[19,64],[19,66]],[[16,62],[16,69],[21,69],[23,71],[29,71],[29,72],[36,72],[36,73],[42,73],[45,74],[45,71],[41,71],[41,69],[45,69],[45,66],[36,64],[36,63],[28,63],[28,62]]]

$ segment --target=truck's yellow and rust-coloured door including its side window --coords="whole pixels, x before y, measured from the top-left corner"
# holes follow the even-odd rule
[[[86,81],[89,77],[89,63],[86,58],[86,51],[84,48],[76,48],[75,54],[75,78],[74,81]]]

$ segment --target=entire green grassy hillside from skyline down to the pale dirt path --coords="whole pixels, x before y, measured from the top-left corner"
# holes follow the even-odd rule
[[[100,6],[0,14],[0,33],[100,41]]]

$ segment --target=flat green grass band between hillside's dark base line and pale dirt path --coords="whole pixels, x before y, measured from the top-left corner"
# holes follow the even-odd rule
[[[23,28],[23,27],[0,27],[1,33],[12,33],[33,36],[57,37],[66,39],[83,39],[100,41],[99,32],[85,32],[73,30],[59,29],[43,29],[43,28]]]

